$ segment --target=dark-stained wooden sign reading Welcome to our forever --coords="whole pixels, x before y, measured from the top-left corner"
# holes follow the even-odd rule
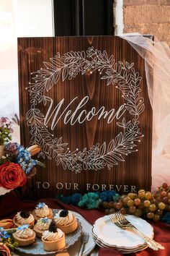
[[[143,59],[116,36],[19,38],[21,142],[42,148],[23,193],[151,188]]]

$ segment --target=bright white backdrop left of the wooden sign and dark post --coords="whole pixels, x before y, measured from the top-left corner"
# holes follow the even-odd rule
[[[53,36],[52,0],[0,1],[0,116],[19,116],[17,37],[34,36]]]

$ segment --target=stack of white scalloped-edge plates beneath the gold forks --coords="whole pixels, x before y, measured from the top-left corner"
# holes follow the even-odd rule
[[[142,218],[127,215],[126,218],[139,231],[153,239],[153,227]],[[148,245],[143,238],[132,229],[120,229],[113,223],[109,216],[98,218],[95,221],[92,234],[99,247],[113,248],[126,254],[146,249]]]

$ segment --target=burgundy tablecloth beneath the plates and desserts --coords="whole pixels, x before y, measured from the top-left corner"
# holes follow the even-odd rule
[[[39,202],[46,202],[50,208],[66,208],[68,210],[74,210],[84,216],[89,223],[93,224],[97,218],[104,216],[104,213],[100,210],[83,210],[73,205],[66,205],[63,202],[53,199],[42,199]],[[22,201],[17,192],[10,192],[9,194],[1,197],[0,201],[0,219],[1,218],[12,218],[14,214],[19,210],[32,210],[35,208],[37,202],[33,201]],[[160,242],[166,249],[153,251],[148,248],[142,252],[136,252],[129,254],[130,256],[169,256],[170,255],[170,226],[165,223],[151,223],[154,228],[154,239]],[[99,256],[121,256],[122,253],[117,252],[115,249],[104,249],[99,248]],[[72,256],[72,255],[71,255]]]

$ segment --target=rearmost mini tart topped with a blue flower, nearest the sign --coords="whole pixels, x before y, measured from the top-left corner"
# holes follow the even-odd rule
[[[34,216],[35,220],[39,220],[40,218],[53,218],[53,212],[48,205],[45,205],[45,202],[39,202],[33,210],[32,215]]]

